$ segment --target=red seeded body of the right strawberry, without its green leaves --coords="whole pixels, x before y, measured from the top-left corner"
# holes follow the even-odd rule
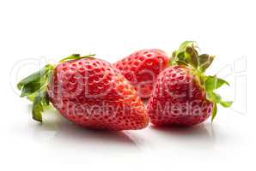
[[[158,76],[147,110],[154,125],[192,126],[205,121],[212,107],[191,70],[172,66]]]

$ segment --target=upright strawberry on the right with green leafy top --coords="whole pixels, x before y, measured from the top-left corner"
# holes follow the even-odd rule
[[[204,74],[214,56],[198,55],[195,42],[186,41],[174,51],[172,65],[158,75],[147,111],[154,125],[192,126],[216,116],[216,104],[229,107],[214,92],[229,83]]]

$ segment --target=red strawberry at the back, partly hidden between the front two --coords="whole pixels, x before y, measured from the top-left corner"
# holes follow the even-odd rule
[[[113,65],[135,86],[140,97],[148,98],[157,75],[168,67],[168,55],[157,49],[139,50]]]

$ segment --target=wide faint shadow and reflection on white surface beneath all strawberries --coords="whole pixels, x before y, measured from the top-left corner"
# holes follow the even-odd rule
[[[36,143],[43,143],[42,145],[47,145],[54,150],[80,150],[103,156],[104,154],[107,156],[150,154],[152,151],[173,154],[186,153],[187,150],[206,152],[217,148],[219,144],[228,145],[238,142],[232,134],[228,133],[230,130],[222,130],[220,125],[212,125],[209,121],[194,127],[150,125],[138,131],[100,131],[76,126],[54,109],[44,114],[43,124],[31,121],[26,127],[32,133]]]

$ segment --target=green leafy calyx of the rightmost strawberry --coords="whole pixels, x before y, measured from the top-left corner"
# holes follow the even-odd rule
[[[178,50],[175,50],[169,60],[170,65],[183,65],[192,69],[193,74],[198,76],[201,86],[206,91],[206,98],[213,103],[211,121],[216,117],[217,104],[229,108],[232,102],[222,101],[222,97],[215,92],[222,85],[229,85],[226,80],[215,76],[205,75],[204,72],[210,67],[215,56],[208,54],[198,54],[198,44],[194,41],[185,41],[180,44]]]

